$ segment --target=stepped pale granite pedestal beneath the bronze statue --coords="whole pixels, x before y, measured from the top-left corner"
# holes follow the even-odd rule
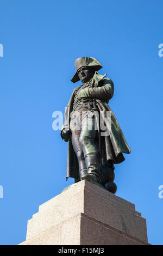
[[[83,180],[40,205],[20,245],[148,245],[146,220],[134,204]]]

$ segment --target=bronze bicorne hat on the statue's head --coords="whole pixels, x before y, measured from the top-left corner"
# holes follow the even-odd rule
[[[76,72],[75,72],[74,76],[71,79],[71,81],[73,83],[76,83],[80,80],[79,77],[78,77],[78,69],[82,68],[83,66],[90,66],[95,71],[98,71],[102,68],[102,65],[95,58],[81,57],[81,58],[76,59],[76,61],[75,61]]]

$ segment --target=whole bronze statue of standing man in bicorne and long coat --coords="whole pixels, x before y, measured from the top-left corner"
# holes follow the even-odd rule
[[[73,90],[61,128],[61,137],[68,142],[66,179],[86,179],[115,193],[114,164],[123,162],[123,153],[129,154],[130,148],[108,106],[114,83],[98,74],[102,65],[95,58],[78,58],[75,68],[71,81],[83,84]]]

